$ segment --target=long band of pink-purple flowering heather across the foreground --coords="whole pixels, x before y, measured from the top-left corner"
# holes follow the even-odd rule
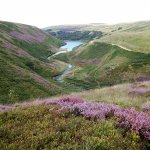
[[[68,109],[75,115],[81,115],[88,119],[104,120],[110,117],[118,119],[118,126],[126,130],[135,131],[141,137],[150,140],[150,116],[144,112],[138,112],[135,109],[124,109],[118,105],[104,102],[88,102],[75,97],[61,98],[59,100],[45,100],[26,102],[20,107],[31,105],[59,105],[60,110]],[[1,110],[15,109],[14,107],[1,106]]]

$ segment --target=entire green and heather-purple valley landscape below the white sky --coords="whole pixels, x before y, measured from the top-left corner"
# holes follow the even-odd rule
[[[1,21],[0,148],[148,150],[149,29]]]

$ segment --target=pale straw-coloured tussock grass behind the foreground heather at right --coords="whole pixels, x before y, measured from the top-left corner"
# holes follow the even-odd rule
[[[133,83],[134,84],[134,83]],[[150,103],[150,96],[145,95],[129,95],[133,84],[120,84],[101,89],[72,93],[71,96],[80,97],[90,101],[109,102],[124,107],[141,108],[142,105]],[[143,85],[145,88],[150,88],[150,81],[139,82],[135,84],[135,89]]]

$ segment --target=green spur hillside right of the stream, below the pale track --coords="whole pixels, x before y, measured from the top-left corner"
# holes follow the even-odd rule
[[[150,55],[91,41],[56,57],[74,65],[65,80],[91,89],[150,76]]]

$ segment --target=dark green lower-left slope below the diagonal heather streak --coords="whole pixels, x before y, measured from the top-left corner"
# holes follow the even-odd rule
[[[54,86],[52,89],[35,80],[30,72],[18,72],[8,62],[0,59],[0,103],[15,103],[23,100],[42,98],[56,95],[62,92],[61,87]],[[22,70],[26,71],[26,70]],[[35,75],[33,73],[33,75]]]

